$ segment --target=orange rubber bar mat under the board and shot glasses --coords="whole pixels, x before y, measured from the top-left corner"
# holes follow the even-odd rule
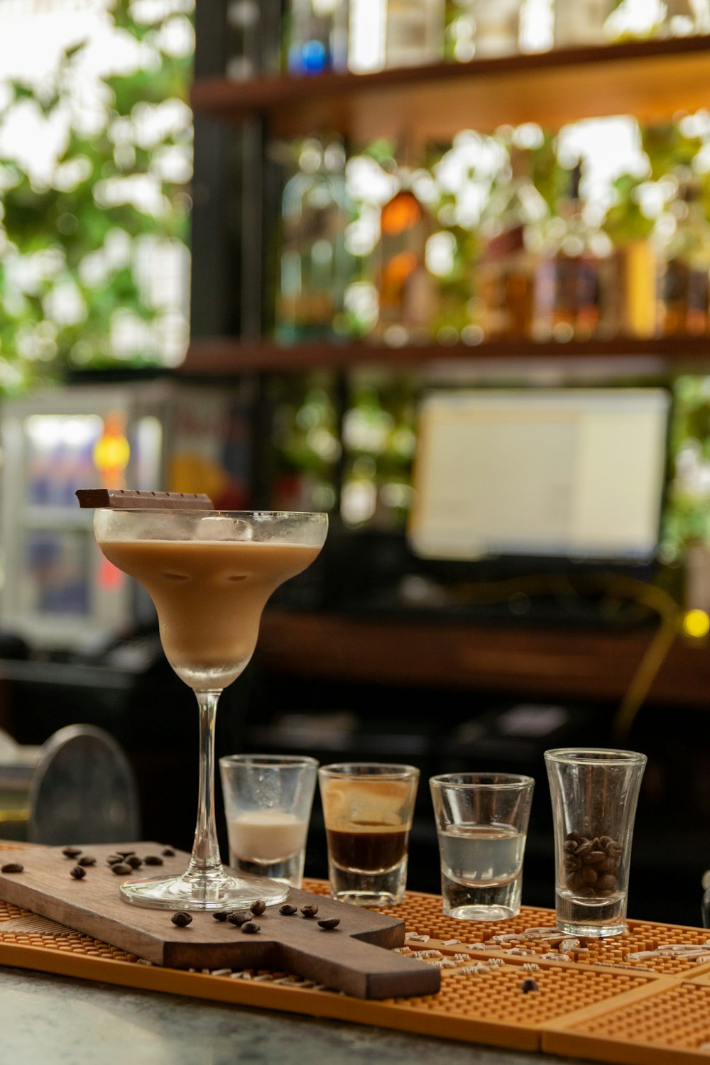
[[[327,892],[320,881],[303,886]],[[556,931],[550,910],[460,921],[439,896],[416,892],[381,912],[403,918],[401,951],[441,968],[436,995],[374,1002],[287,972],[164,968],[4,902],[0,964],[600,1062],[710,1062],[706,930],[629,920],[625,935],[576,940]]]

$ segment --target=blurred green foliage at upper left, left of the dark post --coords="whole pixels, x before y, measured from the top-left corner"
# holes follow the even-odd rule
[[[156,332],[141,329],[158,323],[165,307],[142,283],[138,259],[146,239],[187,243],[183,174],[170,180],[162,163],[169,151],[186,160],[183,170],[192,159],[192,53],[171,54],[162,34],[184,9],[176,3],[146,23],[133,17],[130,0],[114,0],[115,32],[141,43],[141,65],[97,82],[98,130],[82,119],[77,88],[88,42],[67,48],[40,88],[29,80],[1,86],[9,102],[0,140],[18,114],[39,126],[64,120],[66,135],[49,176],[0,157],[0,394],[73,368],[165,361]],[[147,134],[147,121],[170,100],[184,106]],[[136,195],[136,182],[147,195]],[[137,340],[119,347],[116,325],[126,315]]]

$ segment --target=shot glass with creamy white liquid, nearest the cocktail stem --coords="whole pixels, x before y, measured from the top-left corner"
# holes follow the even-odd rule
[[[233,869],[301,886],[317,769],[315,758],[297,755],[219,759]]]

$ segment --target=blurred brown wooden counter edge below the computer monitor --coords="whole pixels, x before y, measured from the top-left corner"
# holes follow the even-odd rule
[[[365,621],[269,607],[257,657],[267,672],[313,679],[621,702],[654,632]],[[648,700],[707,707],[709,691],[708,644],[678,639]]]

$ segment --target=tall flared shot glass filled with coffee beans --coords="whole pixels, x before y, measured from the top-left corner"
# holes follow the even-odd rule
[[[555,826],[557,927],[575,936],[621,935],[646,756],[560,748],[545,752],[545,764]]]

